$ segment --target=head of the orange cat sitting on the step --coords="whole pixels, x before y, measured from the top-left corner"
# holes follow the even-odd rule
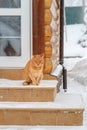
[[[32,58],[33,66],[40,68],[44,64],[44,54],[34,55]]]

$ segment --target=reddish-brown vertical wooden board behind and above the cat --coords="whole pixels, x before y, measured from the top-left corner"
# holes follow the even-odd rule
[[[44,52],[44,0],[33,0],[33,54]]]

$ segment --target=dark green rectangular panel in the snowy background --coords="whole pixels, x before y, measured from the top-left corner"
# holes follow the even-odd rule
[[[66,7],[66,24],[83,23],[83,8],[82,7]]]

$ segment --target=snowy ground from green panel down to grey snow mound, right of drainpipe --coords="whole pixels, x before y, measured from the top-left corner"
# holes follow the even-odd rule
[[[87,58],[87,47],[83,47],[86,27],[83,24],[68,25],[64,28],[64,66],[72,70],[75,64]],[[81,43],[78,43],[81,40]],[[85,41],[87,45],[87,41]]]

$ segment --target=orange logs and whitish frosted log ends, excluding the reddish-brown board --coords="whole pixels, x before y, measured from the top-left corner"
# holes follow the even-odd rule
[[[44,73],[51,73],[60,58],[60,0],[44,0]]]

